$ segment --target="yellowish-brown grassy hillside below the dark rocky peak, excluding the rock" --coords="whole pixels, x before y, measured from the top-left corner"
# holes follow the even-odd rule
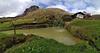
[[[12,22],[15,25],[18,24],[23,24],[23,23],[43,23],[46,22],[48,20],[48,18],[54,18],[52,16],[55,16],[55,18],[61,18],[63,15],[69,15],[69,13],[66,13],[65,11],[61,10],[61,9],[39,9],[36,11],[32,11],[32,12],[28,12],[27,15],[23,16],[23,17],[16,17],[14,19],[9,19],[9,21],[7,22],[3,22],[8,20],[8,18],[6,19],[2,19],[3,23],[0,23],[0,30],[9,30],[12,29]]]

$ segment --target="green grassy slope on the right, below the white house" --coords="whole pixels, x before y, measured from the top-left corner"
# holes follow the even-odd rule
[[[100,20],[76,19],[72,21],[71,26],[77,27],[76,30],[80,30],[81,33],[91,38],[100,48]]]

